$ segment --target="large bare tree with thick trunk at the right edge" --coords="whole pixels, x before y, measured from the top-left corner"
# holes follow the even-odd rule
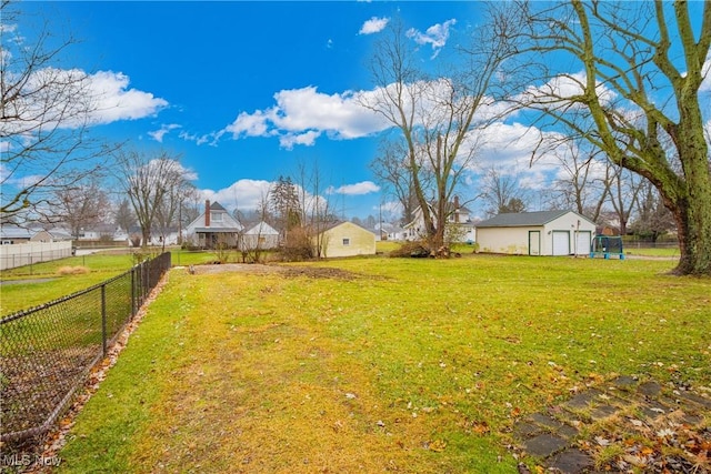
[[[517,1],[507,7],[512,7],[507,18],[521,20],[512,40],[531,71],[518,77],[537,85],[522,95],[522,104],[648,179],[677,221],[681,259],[675,272],[711,274],[709,108],[701,107],[709,100],[702,82],[709,74],[711,2]],[[551,70],[549,56],[580,69]]]

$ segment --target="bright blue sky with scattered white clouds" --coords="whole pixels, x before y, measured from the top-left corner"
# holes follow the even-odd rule
[[[93,134],[180,155],[204,198],[230,210],[254,209],[279,175],[316,163],[332,209],[365,218],[391,209],[392,200],[369,169],[382,122],[353,101],[374,88],[368,70],[374,42],[398,17],[421,63],[437,68],[480,20],[482,4],[31,1],[22,8],[49,20],[59,38],[71,32],[81,41],[60,64],[91,74],[104,97]],[[513,170],[522,185],[540,190],[557,165],[541,160],[529,168],[535,140],[527,129],[515,118],[493,127],[479,167]],[[464,200],[478,192],[461,191]]]

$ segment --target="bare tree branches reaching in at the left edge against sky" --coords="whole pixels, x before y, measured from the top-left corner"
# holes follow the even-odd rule
[[[104,163],[107,150],[87,133],[96,98],[84,72],[58,67],[73,38],[56,42],[46,24],[28,43],[7,0],[0,18],[0,223],[56,222],[54,193]]]

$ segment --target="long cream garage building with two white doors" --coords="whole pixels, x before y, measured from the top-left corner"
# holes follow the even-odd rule
[[[588,255],[594,222],[572,211],[504,213],[477,224],[481,252]]]

